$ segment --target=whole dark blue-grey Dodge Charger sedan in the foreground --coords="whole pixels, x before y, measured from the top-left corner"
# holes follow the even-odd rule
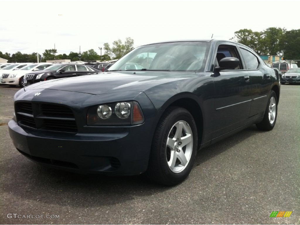
[[[101,76],[20,89],[8,128],[20,153],[48,167],[175,185],[198,149],[252,124],[272,130],[279,97],[278,73],[247,46],[170,41],[133,49]]]

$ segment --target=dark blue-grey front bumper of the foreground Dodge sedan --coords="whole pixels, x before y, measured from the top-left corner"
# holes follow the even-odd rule
[[[35,92],[30,91],[30,96]],[[45,93],[47,90],[43,91]],[[74,99],[76,95],[82,94],[73,93]],[[121,98],[122,93],[119,95]],[[71,97],[68,98],[69,104],[73,102]],[[24,99],[23,96],[22,101]],[[77,133],[67,133],[28,128],[10,120],[9,134],[20,153],[48,167],[77,173],[137,175],[148,167],[153,133],[162,111],[156,111],[143,92],[133,100],[140,103],[145,116],[141,125],[88,126],[80,121]],[[65,101],[68,101],[67,97]]]

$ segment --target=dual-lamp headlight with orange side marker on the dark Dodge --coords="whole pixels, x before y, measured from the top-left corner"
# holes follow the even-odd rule
[[[143,122],[143,112],[135,101],[95,106],[87,114],[87,125],[136,125]]]

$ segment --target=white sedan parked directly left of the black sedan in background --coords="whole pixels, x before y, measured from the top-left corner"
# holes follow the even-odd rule
[[[7,84],[10,86],[16,86],[19,85],[20,87],[23,87],[23,81],[24,81],[24,75],[30,71],[38,71],[38,70],[45,70],[45,68],[52,66],[53,63],[32,63],[25,67],[22,67],[19,70],[13,70],[10,73],[2,74],[1,76],[1,84]]]

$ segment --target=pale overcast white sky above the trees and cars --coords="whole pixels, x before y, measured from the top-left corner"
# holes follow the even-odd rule
[[[84,52],[126,37],[160,41],[229,40],[240,29],[300,29],[300,1],[0,0],[0,51]],[[102,55],[104,50],[102,49]]]

